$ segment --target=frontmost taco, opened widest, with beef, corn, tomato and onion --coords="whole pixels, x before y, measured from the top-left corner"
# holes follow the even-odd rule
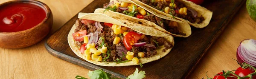
[[[77,56],[93,64],[128,66],[166,56],[174,45],[173,37],[166,35],[154,28],[127,20],[118,21],[105,14],[79,13],[79,19],[68,34],[68,43]]]

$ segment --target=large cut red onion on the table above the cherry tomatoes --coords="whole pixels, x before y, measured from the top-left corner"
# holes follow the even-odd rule
[[[236,51],[236,57],[240,64],[246,62],[256,67],[256,40],[246,39],[240,42]]]

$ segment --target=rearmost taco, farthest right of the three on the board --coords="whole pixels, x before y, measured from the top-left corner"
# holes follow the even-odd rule
[[[187,0],[129,0],[133,3],[156,11],[173,19],[189,23],[196,28],[206,27],[211,18],[212,11]]]

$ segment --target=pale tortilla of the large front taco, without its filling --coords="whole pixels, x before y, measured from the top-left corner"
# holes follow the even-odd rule
[[[169,42],[170,44],[172,44],[172,46],[174,45],[174,40],[173,37],[165,34],[162,31],[158,31],[155,30],[152,27],[147,27],[145,25],[141,25],[141,24],[137,24],[131,21],[127,21],[127,20],[116,20],[113,19],[105,14],[101,14],[101,13],[79,13],[79,19],[87,19],[87,20],[94,20],[94,21],[98,21],[98,22],[103,22],[103,23],[112,23],[112,24],[116,24],[116,25],[122,25],[128,28],[131,28],[134,31],[140,32],[142,34],[145,35],[151,35],[151,36],[155,36],[155,37],[164,37],[164,39]],[[142,28],[134,28],[134,27],[142,27]],[[129,62],[124,62],[124,63],[119,63],[117,64],[116,62],[97,62],[95,60],[88,60],[85,59],[84,54],[81,54],[81,52],[79,51],[79,46],[75,44],[75,40],[73,40],[72,34],[74,33],[74,30],[76,29],[76,26],[73,25],[73,27],[70,30],[70,33],[68,34],[68,43],[70,45],[70,48],[72,49],[72,51],[79,57],[83,58],[84,60],[93,63],[95,65],[102,65],[102,66],[128,66],[128,65],[139,65],[139,64],[135,64],[132,61]],[[144,64],[147,62],[152,62],[155,61],[157,59],[162,58],[163,56],[166,56],[171,50],[172,48],[166,49],[166,52],[162,52],[163,48],[165,48],[164,46],[159,46],[157,47],[157,54],[151,57],[144,57],[139,59],[139,61]]]

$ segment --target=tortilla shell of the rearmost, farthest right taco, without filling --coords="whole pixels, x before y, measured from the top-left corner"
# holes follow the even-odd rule
[[[145,3],[140,2],[139,0],[129,0],[129,1],[133,2],[136,5],[141,6],[144,9],[147,9],[147,10],[150,10],[153,12],[155,11],[158,14],[163,14],[163,15],[165,15],[167,17],[171,17],[171,19],[173,19],[171,14],[166,14],[163,11],[159,11],[156,8],[153,8]],[[197,11],[198,16],[202,15],[205,20],[202,23],[198,24],[198,23],[190,23],[188,20],[185,20],[185,19],[179,18],[179,17],[175,17],[175,19],[181,20],[182,22],[189,23],[190,25],[193,25],[196,28],[204,28],[210,23],[210,20],[212,19],[212,11],[209,11],[207,8],[199,6],[191,1],[187,1],[187,0],[176,0],[176,1],[178,1],[179,3],[183,3],[187,8],[191,8],[191,9]],[[166,17],[165,17],[165,19],[166,19]]]

